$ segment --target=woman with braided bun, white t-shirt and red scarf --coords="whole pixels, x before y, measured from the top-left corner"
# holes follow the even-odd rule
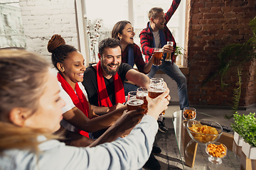
[[[63,120],[60,122],[67,130],[66,137],[70,139],[65,142],[74,146],[90,145],[94,140],[88,138],[88,132],[108,128],[127,107],[122,106],[102,117],[95,115],[87,101],[85,87],[81,83],[85,72],[84,57],[75,47],[66,45],[61,35],[57,34],[49,40],[48,51],[52,53],[53,65],[58,70],[60,96],[66,103],[63,106]]]

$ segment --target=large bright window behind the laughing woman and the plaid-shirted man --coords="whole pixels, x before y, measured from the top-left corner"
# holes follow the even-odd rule
[[[100,29],[97,32],[100,34],[100,37],[97,38],[95,46],[100,40],[104,38],[111,37],[111,30],[117,21],[127,20],[132,23],[135,31],[134,42],[140,46],[139,42],[139,33],[143,28],[146,28],[146,23],[149,21],[148,13],[150,8],[155,6],[161,7],[164,9],[164,12],[168,11],[171,6],[170,0],[81,0],[84,4],[82,8],[83,16],[85,19],[85,25],[87,26],[88,21],[90,20],[90,34],[87,35],[87,43],[90,48],[90,62],[95,62],[93,56],[97,53],[97,47],[90,47],[91,40],[93,38],[91,35],[93,33],[93,28],[97,21],[100,21]],[[174,38],[177,44],[181,47],[184,47],[184,36],[185,36],[185,4],[186,0],[181,1],[180,6],[174,16],[167,24],[171,33],[173,33]],[[88,28],[88,26],[87,26]],[[86,31],[86,30],[85,30]],[[92,49],[92,50],[91,50]],[[181,60],[181,59],[180,59]],[[96,57],[97,62],[97,57]]]

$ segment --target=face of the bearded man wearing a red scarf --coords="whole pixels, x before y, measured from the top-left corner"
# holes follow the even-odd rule
[[[119,46],[110,48],[106,47],[102,56],[100,56],[100,64],[102,66],[102,74],[107,79],[117,73],[117,69],[121,64],[122,51]]]

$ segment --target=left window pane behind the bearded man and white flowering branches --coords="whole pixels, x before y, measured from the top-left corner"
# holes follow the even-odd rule
[[[85,0],[87,21],[90,20],[89,46],[90,62],[97,62],[97,45],[100,40],[111,37],[111,31],[115,23],[121,20],[128,20],[128,0]],[[100,21],[100,29],[97,30],[100,37],[95,36],[95,23]]]

